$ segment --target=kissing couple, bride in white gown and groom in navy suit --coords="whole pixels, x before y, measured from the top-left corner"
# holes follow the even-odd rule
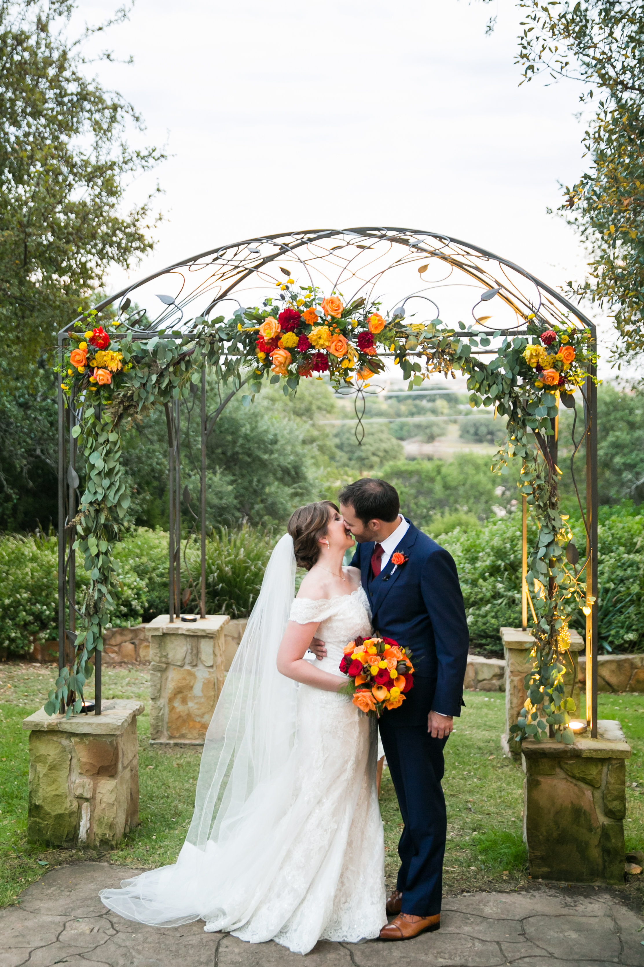
[[[400,514],[391,484],[356,481],[339,502],[299,508],[276,544],[210,721],[177,863],[101,891],[126,919],[203,920],[299,953],[322,939],[439,928],[443,748],[468,647],[459,578],[449,553]],[[307,573],[295,597],[296,566]],[[374,632],[414,666],[405,701],[378,722],[351,702],[339,667],[347,645]],[[404,823],[388,897],[378,728]]]

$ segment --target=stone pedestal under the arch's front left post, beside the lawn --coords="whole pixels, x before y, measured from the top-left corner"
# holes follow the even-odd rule
[[[139,821],[141,702],[103,701],[100,716],[25,718],[29,736],[27,838],[48,846],[115,846]]]

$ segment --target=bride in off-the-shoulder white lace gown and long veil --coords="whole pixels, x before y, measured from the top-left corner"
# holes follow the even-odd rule
[[[371,633],[353,541],[335,504],[295,511],[266,568],[210,721],[177,863],[103,890],[127,920],[203,920],[306,953],[387,922],[376,721],[338,694],[344,646]],[[308,571],[294,599],[295,564]],[[327,657],[304,659],[319,634]]]

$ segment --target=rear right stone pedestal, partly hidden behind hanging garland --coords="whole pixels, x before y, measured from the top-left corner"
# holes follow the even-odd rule
[[[517,760],[521,754],[521,744],[510,738],[510,726],[516,724],[518,713],[525,704],[527,692],[524,680],[533,668],[534,660],[530,652],[534,647],[534,638],[530,631],[520,628],[501,628],[501,641],[505,653],[505,732],[501,736],[501,747],[506,755],[512,755]],[[564,685],[566,697],[572,698],[576,706],[576,713],[571,718],[579,716],[579,652],[586,647],[578,631],[571,630],[571,643],[566,661]]]

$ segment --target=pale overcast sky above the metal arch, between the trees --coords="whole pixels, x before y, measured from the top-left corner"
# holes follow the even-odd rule
[[[105,0],[79,13],[96,22]],[[546,213],[583,170],[579,90],[518,87],[518,21],[510,0],[137,0],[102,38],[134,65],[99,73],[172,157],[128,192],[158,180],[165,220],[112,287],[249,236],[370,224],[581,278],[573,230]]]

